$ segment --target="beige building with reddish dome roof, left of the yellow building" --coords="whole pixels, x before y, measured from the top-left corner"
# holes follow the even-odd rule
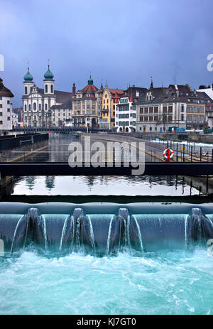
[[[75,126],[98,126],[102,88],[94,86],[89,77],[87,86],[72,98],[72,117]]]

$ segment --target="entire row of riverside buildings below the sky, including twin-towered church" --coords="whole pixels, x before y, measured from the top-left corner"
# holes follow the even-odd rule
[[[189,85],[127,90],[100,88],[89,77],[87,85],[76,92],[55,90],[50,65],[45,72],[43,89],[33,82],[28,71],[23,81],[23,126],[94,126],[118,132],[164,132],[203,129],[213,126],[213,87],[191,90]],[[211,96],[212,95],[212,96]],[[20,120],[12,112],[13,94],[0,84],[0,131],[9,131]],[[2,110],[1,110],[2,109]]]

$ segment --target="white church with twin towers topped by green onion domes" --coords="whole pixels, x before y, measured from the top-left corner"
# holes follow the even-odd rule
[[[58,120],[55,118],[60,116],[58,114],[57,116],[55,115],[54,107],[59,106],[58,109],[60,109],[60,105],[72,99],[73,93],[55,90],[53,77],[50,65],[48,65],[48,70],[45,72],[43,80],[44,88],[38,88],[33,82],[33,76],[28,68],[28,72],[23,77],[23,126],[41,127],[58,124]],[[52,108],[54,108],[53,115]]]

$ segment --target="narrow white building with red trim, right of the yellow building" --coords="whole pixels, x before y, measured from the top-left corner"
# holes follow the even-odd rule
[[[115,108],[115,127],[117,132],[132,132],[136,129],[136,106],[132,95],[121,97]]]

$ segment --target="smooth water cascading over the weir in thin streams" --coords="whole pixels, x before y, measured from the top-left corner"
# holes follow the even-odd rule
[[[31,246],[44,254],[204,247],[213,238],[213,204],[1,203],[0,255]]]

